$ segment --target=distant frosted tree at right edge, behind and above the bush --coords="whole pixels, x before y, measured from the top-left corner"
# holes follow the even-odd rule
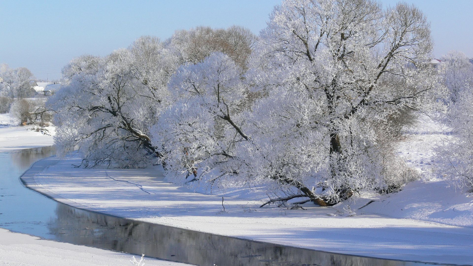
[[[473,84],[473,65],[463,52],[450,51],[442,56],[438,72],[445,79],[452,102],[458,101],[459,94]]]

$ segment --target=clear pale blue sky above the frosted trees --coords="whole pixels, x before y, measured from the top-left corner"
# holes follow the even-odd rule
[[[427,15],[434,55],[473,57],[473,0],[405,0]],[[382,0],[385,6],[397,0]],[[25,66],[39,79],[60,77],[81,54],[106,55],[141,35],[170,37],[196,26],[241,25],[258,34],[280,0],[0,0],[0,63]]]

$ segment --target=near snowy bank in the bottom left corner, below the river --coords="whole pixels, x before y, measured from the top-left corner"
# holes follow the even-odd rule
[[[137,259],[139,256],[137,256]],[[38,239],[0,228],[0,265],[6,266],[130,266],[130,254]],[[146,266],[188,264],[145,258]]]

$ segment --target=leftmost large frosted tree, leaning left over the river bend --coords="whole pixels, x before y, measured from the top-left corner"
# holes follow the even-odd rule
[[[160,156],[148,124],[171,101],[166,83],[175,62],[157,38],[147,36],[105,58],[71,61],[63,69],[67,85],[48,103],[57,111],[59,150],[79,146],[85,166],[144,167],[151,155]]]

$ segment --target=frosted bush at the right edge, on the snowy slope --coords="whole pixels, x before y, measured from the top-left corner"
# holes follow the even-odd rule
[[[456,186],[473,189],[473,93],[464,91],[458,96],[446,119],[452,135],[436,148],[436,168]]]

